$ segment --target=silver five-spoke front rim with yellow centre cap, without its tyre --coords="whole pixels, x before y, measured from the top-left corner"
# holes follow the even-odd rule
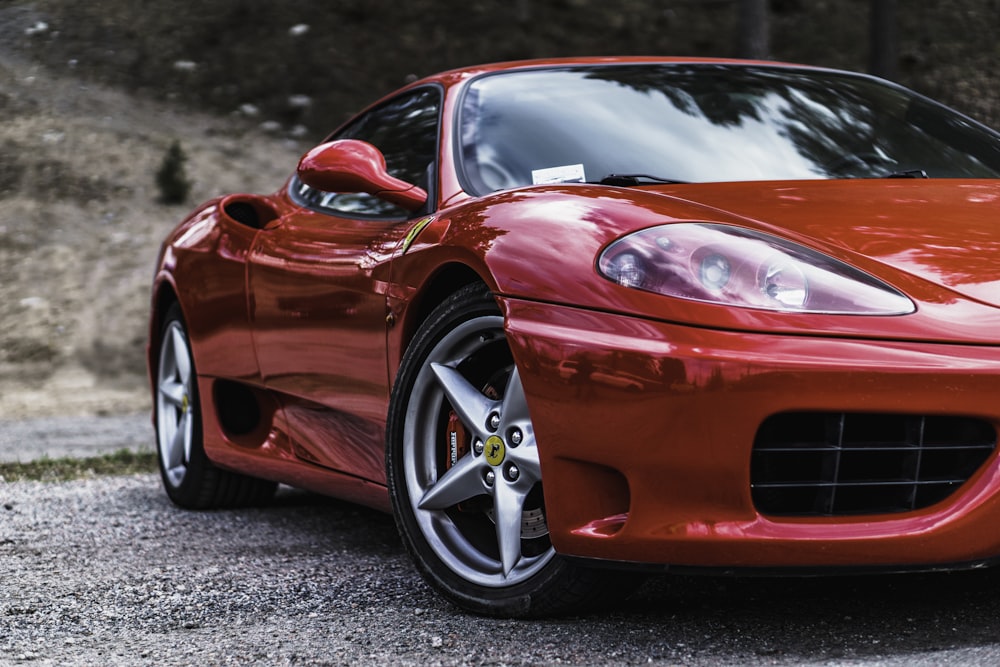
[[[504,354],[496,354],[498,349]],[[478,380],[473,384],[463,374],[470,359],[479,366],[485,359],[490,373],[506,376],[506,388],[496,388],[502,396],[488,396]],[[449,467],[442,456],[442,424],[450,413],[465,427],[471,447]],[[552,559],[547,531],[528,528],[543,520],[541,468],[501,316],[467,320],[434,345],[406,408],[402,460],[421,533],[437,557],[466,581],[512,586]],[[470,512],[460,504],[485,508]]]

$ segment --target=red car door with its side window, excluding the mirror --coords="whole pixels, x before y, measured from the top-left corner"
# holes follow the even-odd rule
[[[374,144],[391,175],[430,190],[439,116],[438,89],[418,89],[331,139]],[[412,214],[298,179],[289,194],[302,208],[262,230],[248,260],[261,377],[283,396],[300,457],[381,481],[388,262]]]

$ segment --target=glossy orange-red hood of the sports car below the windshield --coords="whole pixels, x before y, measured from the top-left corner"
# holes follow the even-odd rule
[[[1000,182],[700,184],[669,194],[748,218],[890,282],[879,264],[1000,306]]]

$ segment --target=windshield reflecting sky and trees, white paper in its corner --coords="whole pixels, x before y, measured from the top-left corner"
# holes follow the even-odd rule
[[[681,182],[997,178],[1000,135],[877,79],[785,67],[595,65],[486,75],[459,118],[476,194],[643,174]]]

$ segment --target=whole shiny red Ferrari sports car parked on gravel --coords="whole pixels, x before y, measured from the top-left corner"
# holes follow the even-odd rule
[[[417,81],[167,238],[167,494],[391,511],[423,576],[492,615],[651,567],[994,560],[998,177],[1000,135],[846,72]]]

